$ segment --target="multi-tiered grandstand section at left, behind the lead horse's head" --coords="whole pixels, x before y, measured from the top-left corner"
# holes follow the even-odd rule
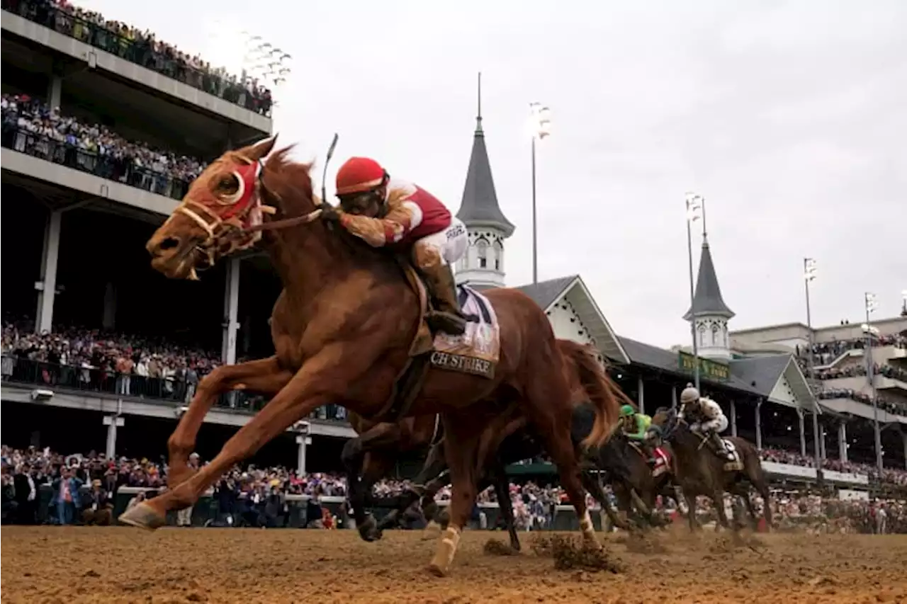
[[[141,24],[68,3],[0,8],[0,442],[156,457],[200,375],[270,349],[267,263],[234,259],[190,285],[161,278],[143,249],[205,161],[271,132],[270,93]],[[225,397],[200,452],[256,404]],[[351,431],[328,413],[263,456],[296,460],[309,442],[336,460]]]

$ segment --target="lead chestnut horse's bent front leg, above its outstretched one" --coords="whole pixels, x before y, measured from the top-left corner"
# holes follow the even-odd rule
[[[271,396],[287,385],[292,377],[293,372],[278,364],[277,356],[239,365],[221,365],[209,375],[205,375],[195,395],[192,396],[189,409],[180,417],[180,423],[167,441],[170,453],[167,470],[168,488],[174,489],[186,482],[194,472],[188,464],[189,455],[195,448],[195,439],[205,415],[219,395],[231,390],[249,390]]]

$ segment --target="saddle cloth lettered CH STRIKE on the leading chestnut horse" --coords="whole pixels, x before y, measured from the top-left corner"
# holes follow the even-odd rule
[[[463,315],[469,318],[462,336],[438,333],[429,357],[432,366],[463,374],[494,377],[501,355],[501,327],[487,297],[468,286],[457,286]]]

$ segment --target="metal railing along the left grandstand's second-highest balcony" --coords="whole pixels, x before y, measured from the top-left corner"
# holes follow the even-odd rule
[[[142,168],[131,158],[79,149],[65,141],[54,141],[34,132],[20,130],[15,122],[5,120],[2,115],[0,120],[0,147],[174,200],[181,200],[189,190],[189,181]]]

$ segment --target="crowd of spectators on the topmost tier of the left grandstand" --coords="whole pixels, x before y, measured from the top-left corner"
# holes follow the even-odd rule
[[[0,0],[0,8],[249,111],[270,115],[273,102],[263,83],[245,74],[227,73],[158,40],[148,30],[106,19],[67,0]]]

